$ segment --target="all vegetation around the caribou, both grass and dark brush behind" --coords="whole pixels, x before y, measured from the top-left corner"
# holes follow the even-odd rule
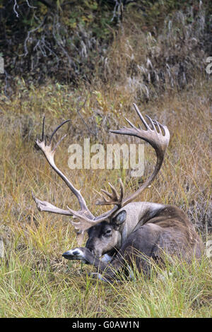
[[[211,316],[210,254],[191,264],[167,257],[149,278],[135,268],[133,281],[102,283],[92,266],[62,258],[78,247],[69,217],[37,211],[31,196],[78,209],[35,146],[44,114],[47,135],[71,119],[56,160],[93,214],[107,211],[93,207],[93,188],[119,177],[127,193],[138,188],[142,179],[123,167],[68,166],[69,146],[85,137],[125,143],[109,129],[124,116],[134,122],[136,102],[171,134],[160,174],[137,201],[175,204],[211,243],[211,13],[211,1],[0,1],[1,317]],[[155,165],[147,145],[145,160],[146,178]]]

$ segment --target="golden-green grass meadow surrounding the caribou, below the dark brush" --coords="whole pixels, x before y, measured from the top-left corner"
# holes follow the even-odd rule
[[[158,279],[153,273],[149,280],[138,276],[134,283],[126,280],[121,285],[105,285],[88,277],[92,267],[62,259],[66,249],[77,246],[69,218],[40,213],[35,207],[31,191],[61,208],[67,205],[78,208],[69,189],[35,149],[35,134],[41,131],[44,113],[47,134],[62,119],[71,119],[69,136],[56,153],[57,165],[78,189],[82,188],[93,213],[104,210],[94,205],[97,194],[93,189],[100,191],[107,181],[117,184],[120,176],[125,180],[123,170],[69,170],[68,167],[69,144],[83,143],[83,137],[108,143],[111,140],[108,128],[124,124],[126,115],[137,123],[131,108],[136,93],[114,86],[107,88],[69,90],[66,86],[49,84],[27,89],[20,82],[20,89],[11,100],[1,97],[0,236],[6,251],[4,259],[0,259],[2,317],[211,315],[212,269],[207,257],[200,265],[194,262],[190,267],[180,263],[167,266],[172,274],[164,278]],[[187,91],[165,94],[147,105],[138,102],[141,112],[167,124],[171,133],[163,168],[151,189],[139,199],[182,207],[204,241],[209,239],[206,233],[211,227],[211,88],[210,81],[200,81]],[[82,107],[80,112],[90,131],[95,129],[95,136],[79,117],[77,107]],[[146,147],[145,155],[148,165],[152,165],[151,148]],[[146,169],[145,175],[149,172]],[[131,191],[135,184],[125,181],[125,185],[126,191]]]

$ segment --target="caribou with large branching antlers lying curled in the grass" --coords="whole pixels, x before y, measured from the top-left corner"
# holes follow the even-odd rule
[[[40,201],[32,193],[37,208],[39,211],[76,218],[76,221],[71,219],[71,224],[78,231],[79,247],[64,252],[62,256],[65,259],[92,264],[97,269],[97,272],[93,274],[106,281],[115,280],[119,271],[123,271],[123,269],[130,271],[134,263],[139,272],[148,274],[151,270],[151,261],[158,263],[160,259],[163,260],[164,253],[170,257],[176,256],[185,261],[191,261],[193,257],[199,259],[203,252],[201,238],[196,233],[192,222],[180,208],[162,203],[134,201],[144,189],[151,185],[160,171],[170,141],[167,126],[151,119],[148,115],[146,115],[146,120],[135,104],[134,108],[144,129],[141,126],[135,126],[125,118],[129,127],[123,126],[121,129],[110,130],[110,132],[136,136],[148,142],[156,153],[155,168],[146,182],[129,196],[124,194],[122,179],[119,179],[119,193],[110,183],[111,192],[101,189],[101,198],[96,204],[112,205],[113,207],[98,216],[90,212],[81,191],[73,186],[54,163],[54,153],[66,135],[54,147],[52,147],[52,138],[58,129],[70,120],[57,126],[47,143],[44,117],[41,141],[38,136],[36,139],[36,144],[44,153],[47,162],[71,189],[80,206],[78,211],[73,211],[69,207],[64,210],[47,201]],[[86,232],[88,233],[86,247],[81,247]]]

